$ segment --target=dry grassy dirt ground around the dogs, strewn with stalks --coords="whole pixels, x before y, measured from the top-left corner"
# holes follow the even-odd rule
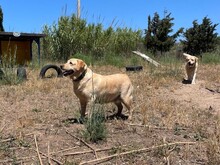
[[[85,141],[84,125],[73,120],[79,103],[71,81],[38,79],[39,70],[27,68],[27,81],[0,86],[0,164],[216,163],[219,148],[211,137],[219,128],[220,66],[207,67],[195,85],[181,82],[183,72],[127,72],[135,89],[134,118],[106,120],[107,138],[97,143]],[[125,72],[111,66],[93,70]],[[111,104],[103,109],[107,116],[114,113]]]

